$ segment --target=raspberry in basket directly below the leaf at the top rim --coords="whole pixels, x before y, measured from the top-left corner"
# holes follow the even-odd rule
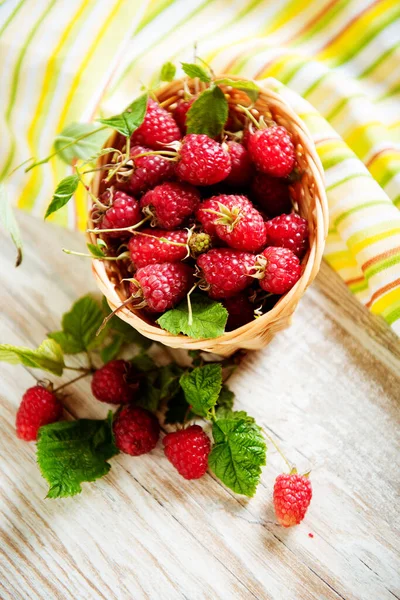
[[[229,175],[229,153],[207,135],[191,133],[182,140],[176,174],[193,185],[213,185]]]

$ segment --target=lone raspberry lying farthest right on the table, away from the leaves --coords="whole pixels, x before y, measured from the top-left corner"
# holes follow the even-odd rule
[[[283,473],[274,485],[274,507],[277,519],[283,527],[298,525],[310,505],[311,481],[304,475]]]

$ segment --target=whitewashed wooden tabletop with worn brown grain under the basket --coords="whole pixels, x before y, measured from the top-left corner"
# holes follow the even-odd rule
[[[19,221],[18,269],[0,237],[0,340],[36,347],[94,284],[89,261],[61,252],[83,247],[78,234]],[[21,395],[41,374],[2,363],[1,599],[398,598],[399,366],[396,336],[325,265],[293,326],[247,356],[231,380],[238,407],[312,468],[307,517],[284,530],[271,505],[284,466],[273,448],[251,500],[208,474],[183,480],[161,444],[113,459],[80,496],[44,500],[35,447],[14,432]],[[84,380],[70,391],[72,416],[105,415]]]

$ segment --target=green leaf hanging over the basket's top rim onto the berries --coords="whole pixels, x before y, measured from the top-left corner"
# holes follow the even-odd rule
[[[218,87],[204,90],[189,108],[186,117],[188,133],[205,133],[217,137],[228,119],[228,102]]]

